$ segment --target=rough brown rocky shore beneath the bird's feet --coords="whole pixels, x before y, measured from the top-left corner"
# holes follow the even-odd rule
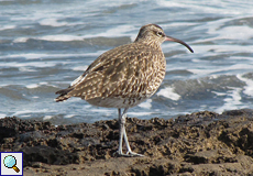
[[[129,118],[130,145],[145,157],[117,157],[117,120],[52,125],[0,119],[0,151],[23,152],[24,175],[253,176],[253,110],[175,120]]]

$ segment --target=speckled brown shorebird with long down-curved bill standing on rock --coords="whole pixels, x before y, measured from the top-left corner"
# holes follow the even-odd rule
[[[140,29],[133,43],[100,55],[68,88],[56,92],[59,96],[55,101],[80,97],[94,106],[118,108],[120,134],[117,153],[120,156],[143,156],[130,147],[124,127],[127,111],[154,95],[162,84],[166,66],[161,47],[164,41],[180,43],[194,53],[185,42],[165,35],[161,26],[146,24]],[[123,113],[121,109],[124,109]],[[123,139],[127,153],[122,152]]]

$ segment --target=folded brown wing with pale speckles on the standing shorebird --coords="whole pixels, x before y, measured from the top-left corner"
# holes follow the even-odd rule
[[[151,73],[152,62],[147,59],[152,58],[152,51],[134,47],[138,46],[129,44],[103,53],[73,82],[70,95],[88,100],[129,97],[132,91],[143,90],[146,85],[140,84]]]

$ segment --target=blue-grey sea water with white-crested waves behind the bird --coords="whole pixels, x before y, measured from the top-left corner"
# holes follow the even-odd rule
[[[118,118],[117,109],[72,98],[55,102],[103,52],[161,25],[166,76],[129,117],[169,119],[196,111],[253,108],[253,1],[0,0],[0,118],[55,124]]]

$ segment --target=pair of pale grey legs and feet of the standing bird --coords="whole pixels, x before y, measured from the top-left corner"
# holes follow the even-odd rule
[[[121,114],[121,110],[119,109],[120,142],[119,142],[118,153],[121,156],[144,156],[144,155],[138,154],[135,152],[132,152],[132,150],[130,147],[128,135],[127,135],[127,132],[125,132],[125,127],[124,127],[125,118],[127,118],[127,111],[128,111],[128,108],[125,108],[123,113]],[[128,150],[127,154],[123,154],[123,152],[122,152],[122,143],[123,143],[122,140],[123,140],[123,138],[124,138],[124,143],[125,143],[127,150]]]

